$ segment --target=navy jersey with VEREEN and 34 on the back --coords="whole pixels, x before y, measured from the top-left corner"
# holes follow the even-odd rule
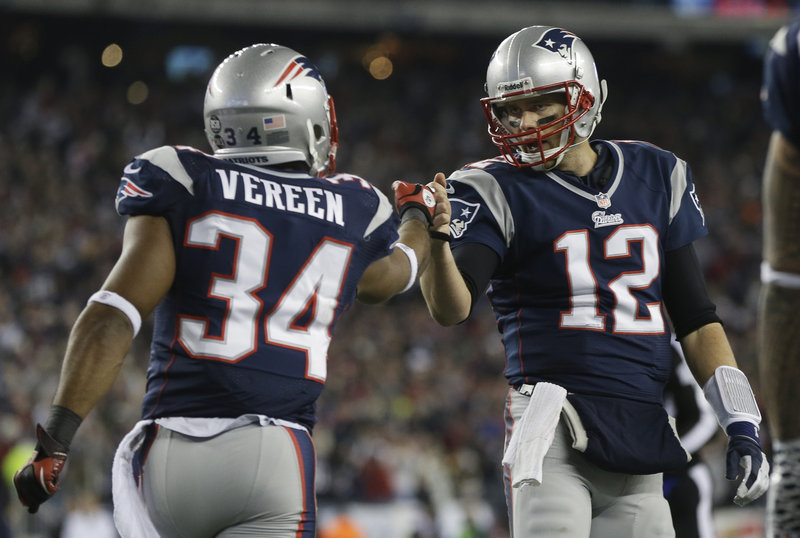
[[[164,217],[175,244],[143,417],[259,413],[313,425],[336,322],[398,238],[389,200],[355,176],[161,147],[125,167],[117,211]]]

